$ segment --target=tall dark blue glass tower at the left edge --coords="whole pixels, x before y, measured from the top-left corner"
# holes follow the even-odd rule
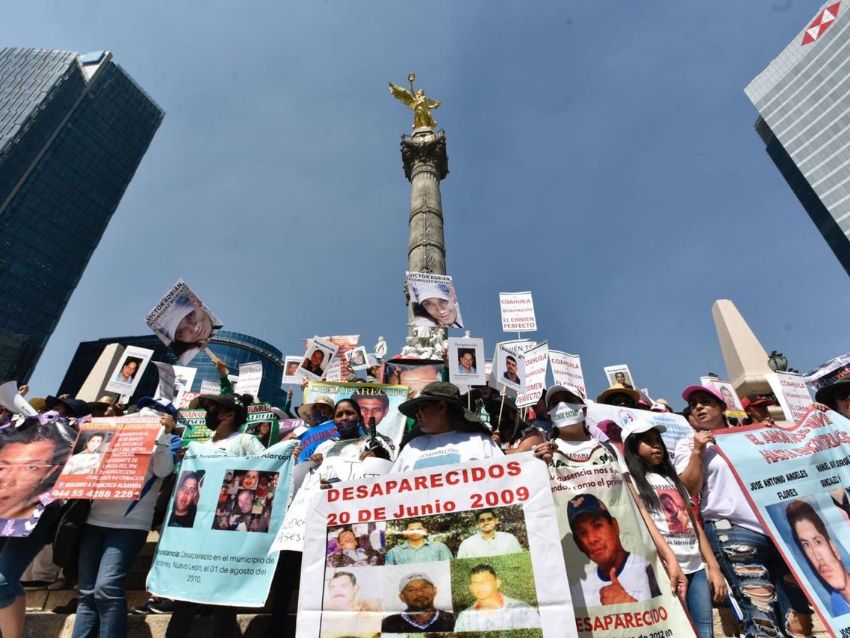
[[[0,49],[0,380],[32,374],[162,117],[109,52]]]

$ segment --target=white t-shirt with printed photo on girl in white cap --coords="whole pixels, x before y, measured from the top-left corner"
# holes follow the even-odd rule
[[[634,483],[634,477],[630,478]],[[686,574],[699,571],[704,565],[699,551],[699,539],[688,514],[690,505],[682,500],[679,490],[666,476],[648,472],[646,481],[661,501],[661,509],[647,508],[655,526],[676,555],[682,571]]]

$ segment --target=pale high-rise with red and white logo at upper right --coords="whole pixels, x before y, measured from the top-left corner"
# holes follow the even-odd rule
[[[827,2],[747,86],[756,131],[850,274],[850,2]]]

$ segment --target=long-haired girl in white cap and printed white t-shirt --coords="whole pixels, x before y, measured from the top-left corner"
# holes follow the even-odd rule
[[[634,421],[623,432],[626,466],[644,507],[688,578],[686,603],[700,638],[712,638],[711,603],[728,594],[720,565],[661,438],[663,425]]]

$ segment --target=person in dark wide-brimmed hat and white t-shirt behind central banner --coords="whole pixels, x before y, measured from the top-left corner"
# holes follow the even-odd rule
[[[468,410],[457,386],[435,382],[399,406],[416,423],[391,472],[488,459],[501,455],[490,430]]]

